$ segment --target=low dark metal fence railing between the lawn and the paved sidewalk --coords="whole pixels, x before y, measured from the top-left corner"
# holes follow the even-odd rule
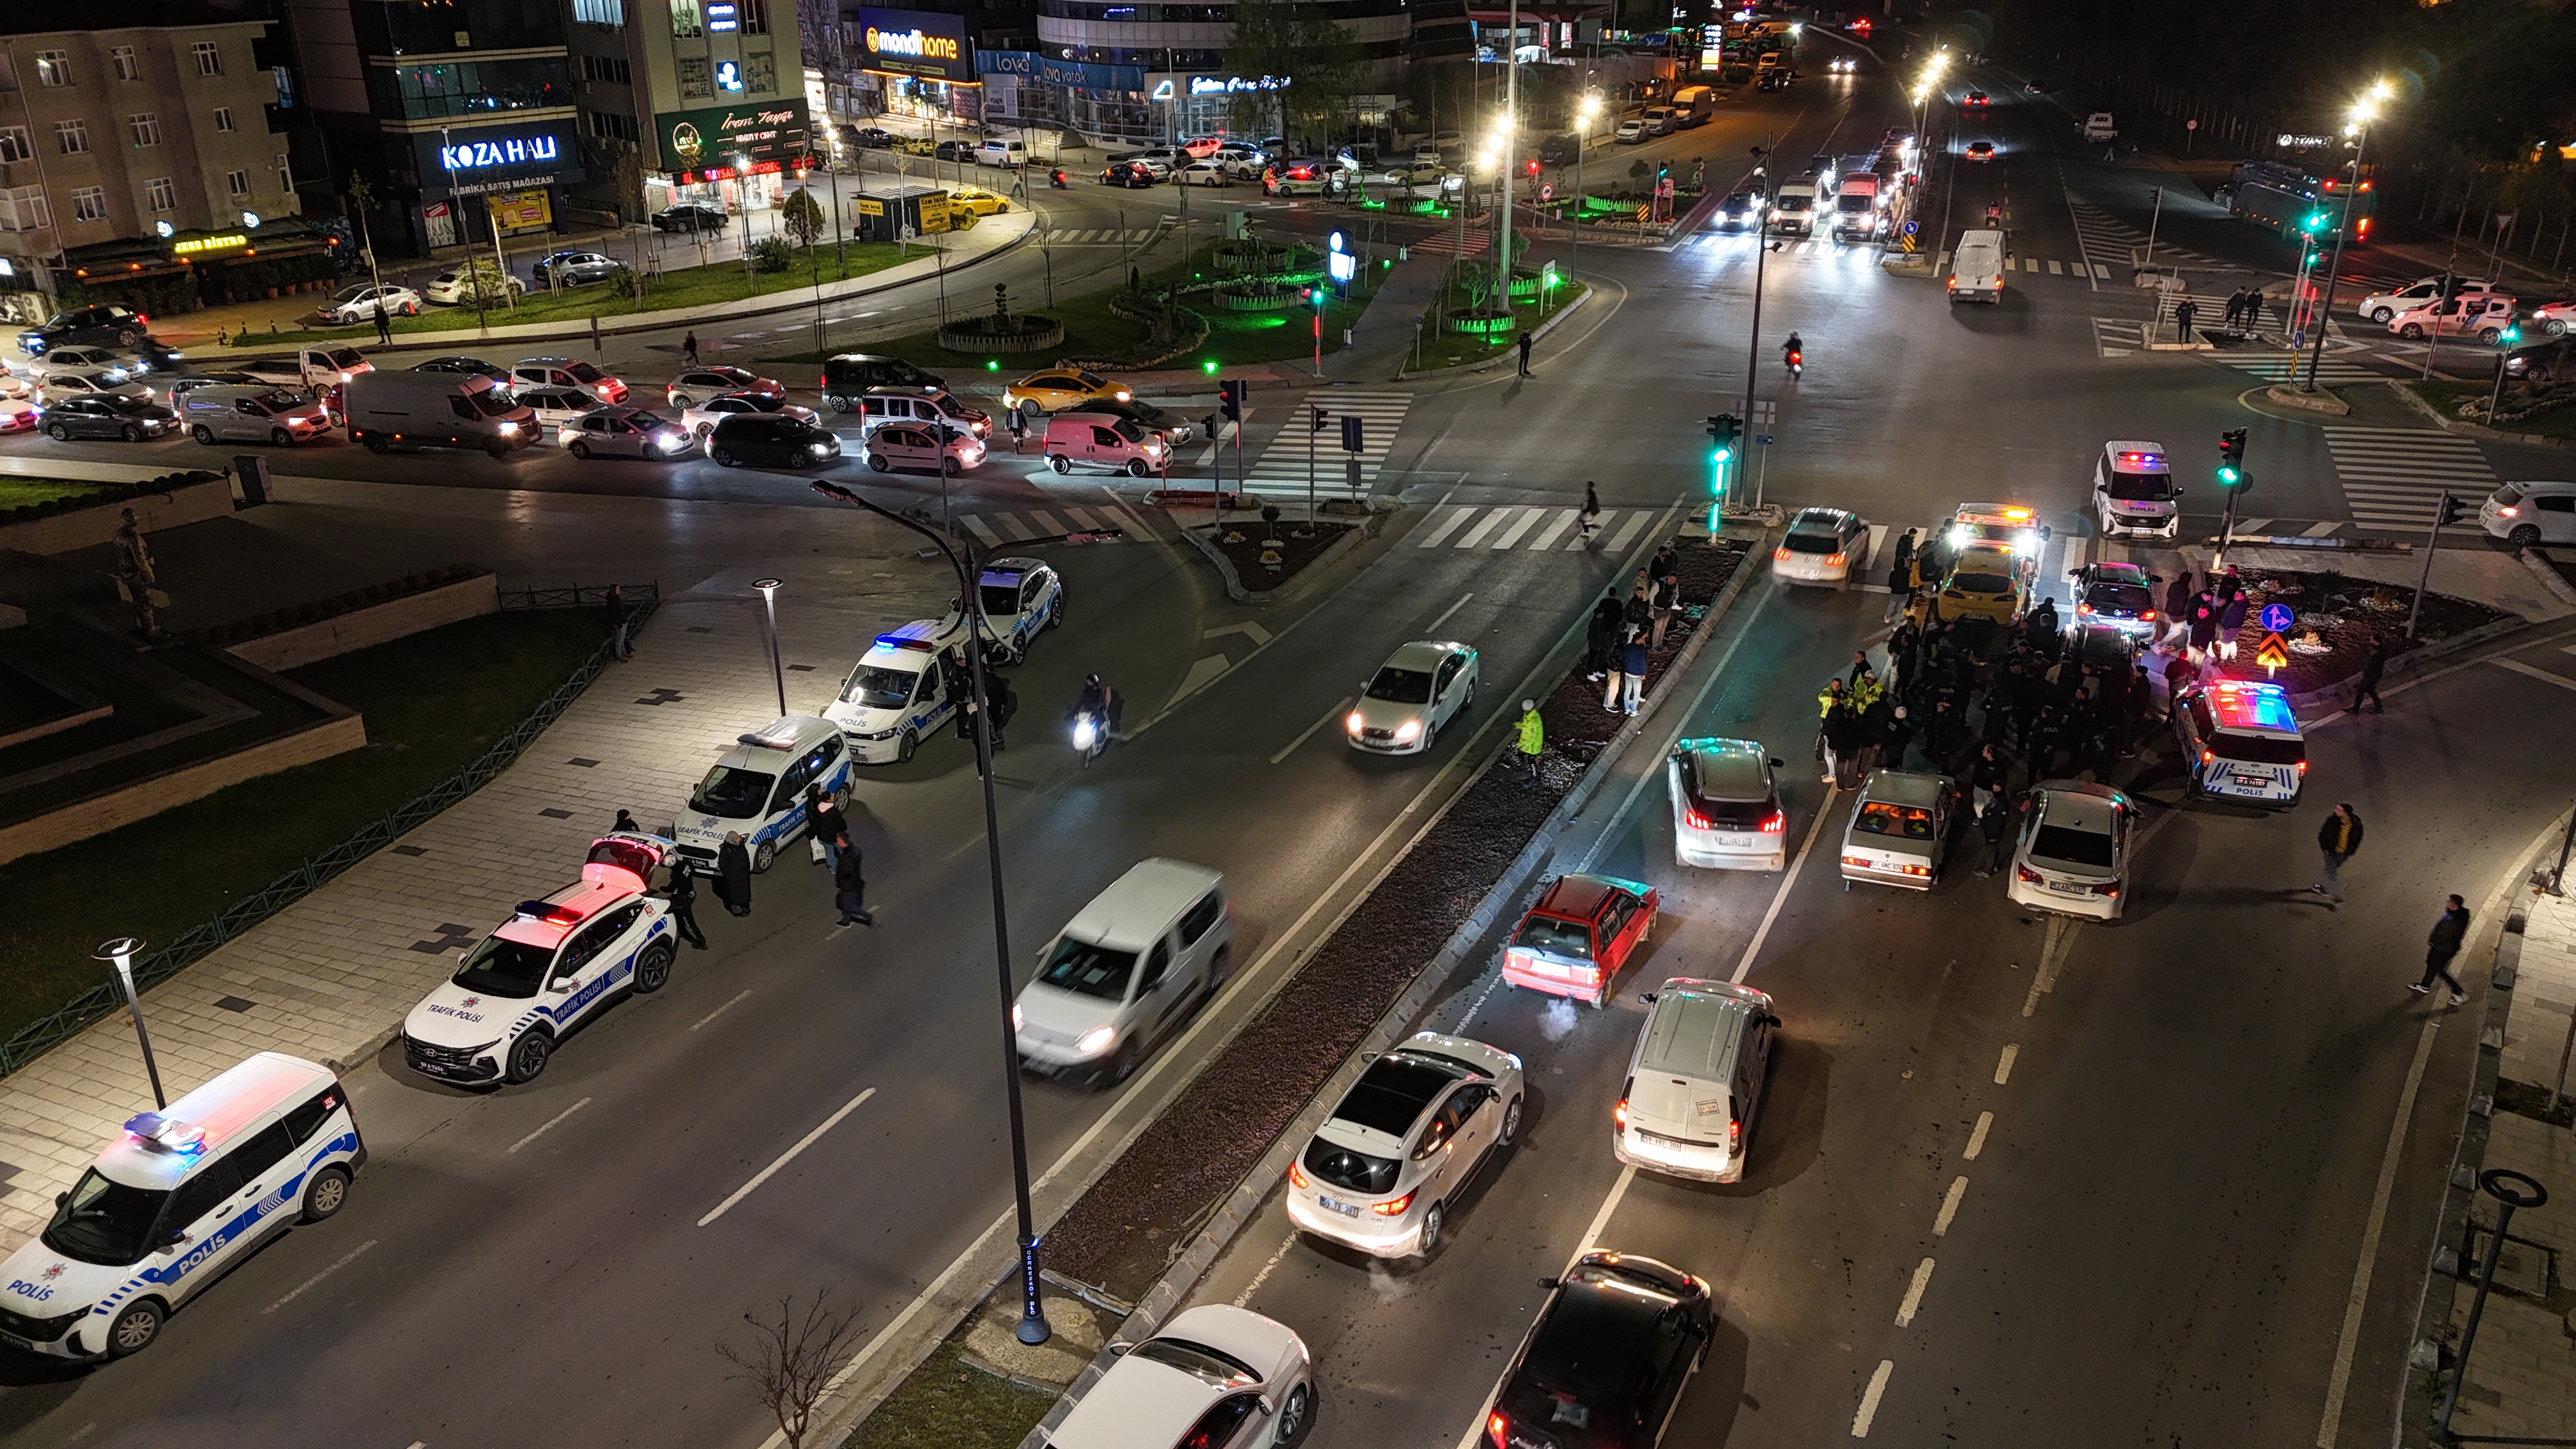
[[[520,601],[513,603],[513,596]],[[605,588],[518,588],[502,593],[502,608],[598,608],[603,596]],[[662,590],[652,583],[626,585],[626,603],[631,608],[634,629],[641,629],[644,619],[649,619],[662,603]],[[209,957],[216,946],[322,890],[358,861],[392,846],[425,820],[435,817],[440,810],[489,784],[492,776],[510,768],[510,763],[518,761],[531,743],[536,743],[546,724],[554,724],[556,717],[562,717],[564,709],[569,709],[572,701],[590,688],[590,681],[595,681],[611,660],[616,660],[616,639],[603,639],[600,647],[590,650],[590,657],[585,657],[572,676],[567,676],[564,683],[544,699],[544,704],[528,712],[526,719],[520,719],[507,735],[495,740],[489,750],[477,755],[461,771],[402,802],[389,815],[358,828],[358,833],[348,841],[340,841],[319,856],[299,861],[291,871],[245,895],[242,900],[234,900],[211,920],[191,926],[160,951],[134,962],[134,990],[155,987],[175,977],[188,964]],[[106,980],[75,995],[52,1016],[28,1021],[8,1042],[0,1042],[0,1075],[15,1073],[54,1047],[70,1042],[93,1021],[116,1013],[124,1000],[124,987]]]

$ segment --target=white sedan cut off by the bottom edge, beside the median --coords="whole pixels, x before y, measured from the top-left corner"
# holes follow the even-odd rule
[[[1314,1415],[1314,1356],[1285,1323],[1198,1305],[1133,1348],[1082,1395],[1054,1449],[1270,1449]]]

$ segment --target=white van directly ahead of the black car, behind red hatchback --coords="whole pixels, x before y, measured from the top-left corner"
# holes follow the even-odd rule
[[[1780,1031],[1770,998],[1695,977],[1638,995],[1651,1011],[1610,1114],[1610,1150],[1646,1173],[1739,1181]]]

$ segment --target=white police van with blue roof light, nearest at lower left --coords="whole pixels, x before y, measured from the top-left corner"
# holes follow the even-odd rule
[[[0,1263],[0,1341],[54,1359],[124,1359],[162,1320],[294,1222],[322,1222],[366,1165],[330,1067],[260,1052],[126,1122]]]

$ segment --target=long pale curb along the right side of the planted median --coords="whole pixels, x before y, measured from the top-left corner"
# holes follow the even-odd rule
[[[1198,1238],[1190,1240],[1190,1248],[1180,1258],[1175,1258],[1172,1266],[1164,1269],[1159,1279],[1154,1279],[1154,1287],[1149,1287],[1144,1297],[1136,1302],[1136,1312],[1131,1312],[1126,1323],[1118,1325],[1118,1333],[1110,1336],[1110,1343],[1118,1346],[1139,1343],[1149,1338],[1154,1328],[1162,1325],[1164,1315],[1170,1315],[1172,1307],[1180,1305],[1180,1299],[1190,1292],[1190,1287],[1198,1284],[1198,1279],[1208,1271],[1211,1263],[1216,1263],[1218,1253],[1224,1253],[1226,1245],[1234,1243],[1234,1235],[1247,1222],[1252,1222],[1255,1212],[1260,1212],[1262,1199],[1267,1199],[1270,1189],[1275,1189],[1280,1176],[1288,1173],[1288,1160],[1296,1158],[1296,1145],[1314,1134],[1314,1129],[1324,1122],[1324,1114],[1332,1111],[1332,1104],[1342,1101],[1342,1093],[1350,1091],[1350,1083],[1358,1080],[1358,1075],[1368,1067],[1368,1062],[1378,1057],[1378,1052],[1386,1052],[1396,1042],[1396,1036],[1401,1036],[1404,1029],[1417,1016],[1422,1016],[1425,1008],[1430,1008],[1432,998],[1448,985],[1450,972],[1455,972],[1458,964],[1466,962],[1476,941],[1494,928],[1494,920],[1502,915],[1502,910],[1530,884],[1530,877],[1548,859],[1548,853],[1556,851],[1556,838],[1564,835],[1564,830],[1582,817],[1582,810],[1600,792],[1602,781],[1610,779],[1610,773],[1618,768],[1618,761],[1625,755],[1628,745],[1643,732],[1646,719],[1651,719],[1656,709],[1662,709],[1662,704],[1677,694],[1680,688],[1677,681],[1700,657],[1700,650],[1708,645],[1710,634],[1716,634],[1716,621],[1726,616],[1736,596],[1744,593],[1747,580],[1754,575],[1749,565],[1757,552],[1759,549],[1747,549],[1744,565],[1736,567],[1734,578],[1726,580],[1726,588],[1721,588],[1718,596],[1708,603],[1708,614],[1700,616],[1700,627],[1692,632],[1690,642],[1682,645],[1680,652],[1674,652],[1672,665],[1664,668],[1664,678],[1656,683],[1654,694],[1638,704],[1636,717],[1623,722],[1620,730],[1610,737],[1610,743],[1602,745],[1597,755],[1592,755],[1592,763],[1584,766],[1584,776],[1574,784],[1574,789],[1564,794],[1564,799],[1556,802],[1556,810],[1551,810],[1548,817],[1538,825],[1538,833],[1530,835],[1530,843],[1522,846],[1517,856],[1512,856],[1512,864],[1502,869],[1502,877],[1492,884],[1492,890],[1484,892],[1484,897],[1476,902],[1476,910],[1471,910],[1466,920],[1458,923],[1458,931],[1450,933],[1440,954],[1422,964],[1412,985],[1404,987],[1404,995],[1399,995],[1396,1003],[1368,1031],[1368,1036],[1360,1039],[1360,1047],[1324,1080],[1324,1085],[1314,1093],[1314,1098],[1309,1098],[1306,1109],[1298,1111],[1296,1119],[1288,1124],[1288,1129],[1280,1132],[1280,1137],[1270,1145],[1267,1152],[1262,1152],[1262,1160],[1249,1173],[1244,1173],[1244,1178],[1234,1186],[1231,1194],[1226,1194],[1226,1201],[1216,1209],[1208,1225],[1198,1230]],[[1502,758],[1504,748],[1510,748],[1507,740],[1497,745],[1494,761]],[[1486,763],[1486,771],[1494,768],[1494,761]],[[1463,797],[1466,789],[1461,789],[1453,797],[1453,802]],[[1406,846],[1406,853],[1412,853],[1412,846]],[[1404,856],[1399,856],[1399,861]],[[1020,1439],[1020,1449],[1046,1449],[1048,1434],[1064,1423],[1064,1415],[1069,1415],[1074,1405],[1082,1403],[1082,1395],[1087,1395],[1092,1385],[1100,1382],[1100,1374],[1105,1374],[1115,1359],[1118,1356],[1108,1348],[1108,1343],[1103,1343],[1092,1364],[1082,1369],[1082,1374],[1072,1382],[1072,1387],[1064,1390],[1064,1395],[1056,1397],[1056,1408],[1046,1410],[1046,1418],[1041,1418],[1038,1426],[1030,1428],[1025,1439]]]

